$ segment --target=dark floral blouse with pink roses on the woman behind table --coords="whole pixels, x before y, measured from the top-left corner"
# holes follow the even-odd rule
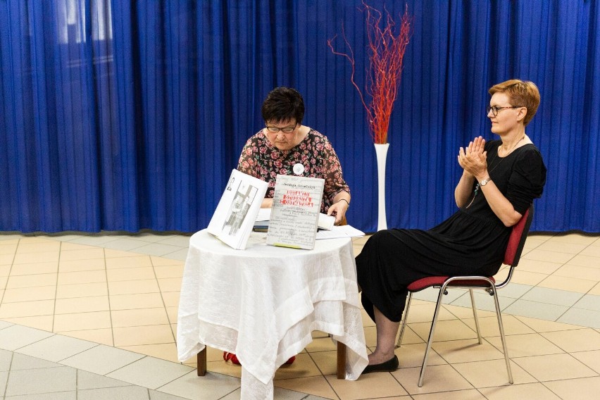
[[[342,165],[339,164],[329,139],[313,129],[291,150],[277,149],[261,130],[246,142],[242,155],[239,156],[237,169],[269,182],[265,197],[272,198],[277,174],[294,175],[292,168],[296,163],[304,165],[303,176],[320,177],[325,180],[322,213],[327,212],[339,192],[344,190],[350,193],[350,188],[342,176]]]

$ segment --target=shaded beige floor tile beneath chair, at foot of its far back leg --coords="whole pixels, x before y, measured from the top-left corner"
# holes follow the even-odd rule
[[[432,349],[450,364],[504,359],[504,354],[485,339],[482,344],[477,343],[477,339],[435,342]]]

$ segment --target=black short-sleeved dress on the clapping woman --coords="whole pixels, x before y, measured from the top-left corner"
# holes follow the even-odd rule
[[[533,144],[502,158],[501,141],[485,144],[489,177],[515,211],[525,213],[542,195],[546,167]],[[430,230],[391,229],[375,233],[356,257],[358,285],[365,311],[373,320],[376,306],[389,320],[401,320],[408,290],[422,277],[485,275],[498,272],[511,235],[487,204],[481,190],[467,205]]]

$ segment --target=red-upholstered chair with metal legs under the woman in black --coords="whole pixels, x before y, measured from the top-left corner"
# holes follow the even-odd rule
[[[531,226],[531,220],[533,217],[533,204],[530,208],[525,211],[525,215],[519,220],[518,223],[513,225],[513,231],[508,239],[508,245],[504,253],[504,263],[510,265],[508,270],[508,276],[504,282],[496,284],[494,277],[484,276],[432,276],[424,277],[420,280],[408,285],[408,299],[406,301],[406,311],[404,318],[401,323],[400,336],[396,347],[401,346],[402,337],[404,336],[404,329],[406,328],[406,321],[408,320],[408,311],[411,307],[411,300],[413,299],[413,293],[420,292],[427,287],[439,287],[439,294],[437,296],[437,304],[435,306],[435,313],[433,314],[433,320],[431,323],[431,329],[429,332],[429,339],[427,339],[427,349],[425,349],[425,356],[423,357],[423,365],[421,366],[421,373],[419,375],[419,387],[423,386],[423,376],[425,375],[425,368],[427,367],[427,357],[429,356],[431,345],[433,342],[433,335],[435,332],[435,325],[437,323],[437,317],[439,315],[439,308],[442,306],[442,296],[448,294],[447,289],[449,287],[456,287],[461,289],[469,289],[471,297],[471,305],[473,306],[473,316],[475,317],[475,329],[477,330],[477,340],[481,344],[481,334],[479,329],[479,320],[477,320],[477,311],[475,309],[475,297],[473,296],[473,289],[483,289],[489,293],[490,296],[494,296],[494,304],[496,305],[496,316],[498,318],[498,326],[500,330],[500,337],[502,339],[502,348],[504,349],[504,358],[506,360],[506,370],[508,372],[508,382],[513,383],[513,373],[511,372],[510,358],[508,358],[508,349],[506,348],[506,339],[504,337],[504,327],[502,325],[502,317],[500,314],[500,305],[498,303],[497,289],[501,289],[508,285],[513,276],[513,271],[519,263],[521,253],[523,252],[523,246],[525,245],[525,239],[527,239],[527,232]]]

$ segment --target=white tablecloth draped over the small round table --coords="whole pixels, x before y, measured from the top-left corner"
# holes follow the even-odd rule
[[[252,233],[245,250],[205,230],[189,240],[177,318],[177,355],[205,345],[237,354],[242,399],[272,399],[275,370],[321,330],[346,344],[346,379],[368,358],[351,239],[319,240],[313,250],[267,246]]]

